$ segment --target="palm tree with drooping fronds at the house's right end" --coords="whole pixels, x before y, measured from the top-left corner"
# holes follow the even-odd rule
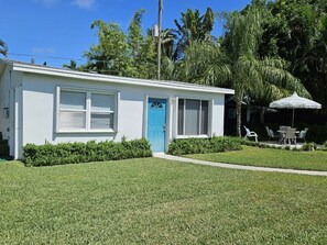
[[[309,97],[298,79],[285,70],[285,62],[258,56],[261,16],[257,9],[228,19],[224,47],[194,44],[185,53],[184,78],[194,82],[235,89],[237,134],[241,136],[241,104],[244,97],[273,100],[297,91]]]

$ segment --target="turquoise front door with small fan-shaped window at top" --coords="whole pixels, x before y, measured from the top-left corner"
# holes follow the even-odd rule
[[[165,151],[166,100],[149,98],[148,141],[154,153]]]

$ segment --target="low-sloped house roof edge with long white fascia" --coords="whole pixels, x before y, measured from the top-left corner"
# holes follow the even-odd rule
[[[10,65],[12,66],[13,70],[22,71],[22,73],[42,74],[42,75],[58,76],[58,77],[66,77],[66,78],[76,78],[76,79],[83,79],[83,80],[94,80],[94,81],[188,90],[188,91],[203,91],[203,92],[214,92],[214,93],[225,93],[225,94],[235,93],[233,89],[226,89],[226,88],[181,82],[181,81],[166,81],[166,80],[152,80],[152,79],[109,76],[109,75],[102,75],[102,74],[84,73],[84,71],[70,70],[70,69],[64,69],[64,68],[54,68],[48,66],[33,65],[33,64],[10,60],[10,59],[0,59],[0,63]]]

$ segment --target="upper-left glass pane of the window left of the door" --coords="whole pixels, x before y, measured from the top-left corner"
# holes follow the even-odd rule
[[[86,109],[86,93],[61,91],[61,109],[67,110],[85,110]]]

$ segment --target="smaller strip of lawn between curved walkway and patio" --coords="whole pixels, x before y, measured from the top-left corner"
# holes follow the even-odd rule
[[[186,155],[185,157],[227,164],[327,171],[327,152],[294,152],[252,146],[242,147],[242,151],[195,154]]]

